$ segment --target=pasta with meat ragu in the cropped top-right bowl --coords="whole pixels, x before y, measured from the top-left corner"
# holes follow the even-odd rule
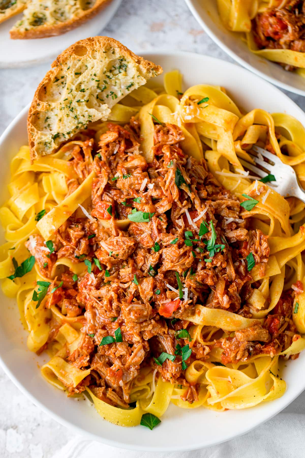
[[[217,0],[222,22],[257,56],[304,76],[303,0]]]

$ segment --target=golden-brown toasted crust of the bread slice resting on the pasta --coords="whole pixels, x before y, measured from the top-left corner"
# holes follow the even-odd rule
[[[101,53],[101,55],[103,55],[103,53],[105,53],[106,50],[108,52],[109,49],[115,49],[116,52],[120,56],[122,56],[124,59],[131,62],[133,64],[133,67],[137,66],[137,71],[139,71],[138,69],[140,69],[142,73],[142,76],[141,76],[142,82],[140,82],[138,86],[132,83],[132,85],[130,86],[134,86],[134,88],[141,86],[142,84],[144,84],[145,80],[149,79],[152,76],[159,75],[163,71],[160,65],[155,65],[154,63],[148,60],[144,60],[142,57],[139,57],[138,55],[135,55],[132,51],[126,48],[123,44],[121,44],[117,40],[114,40],[113,38],[91,37],[91,38],[86,38],[84,40],[80,40],[76,42],[75,44],[72,44],[69,48],[65,49],[64,52],[60,54],[56,60],[54,60],[51,66],[52,67],[51,70],[48,71],[46,76],[43,78],[42,82],[38,85],[37,90],[34,94],[34,98],[32,100],[32,104],[29,109],[29,113],[27,117],[27,133],[28,133],[28,140],[29,140],[29,147],[30,147],[32,161],[40,156],[54,153],[54,151],[56,151],[56,149],[61,145],[61,143],[63,143],[64,141],[67,141],[69,138],[75,135],[76,131],[79,131],[81,130],[81,128],[83,128],[83,126],[81,125],[80,127],[78,127],[78,130],[76,131],[75,131],[75,128],[73,128],[71,131],[71,135],[64,136],[64,138],[61,139],[61,141],[59,138],[57,138],[59,135],[58,135],[58,132],[56,132],[55,134],[56,140],[53,140],[51,142],[52,146],[49,147],[49,149],[42,149],[41,147],[39,149],[37,147],[37,145],[39,144],[39,140],[41,141],[41,138],[43,137],[41,133],[42,130],[41,129],[39,130],[38,128],[36,129],[36,126],[35,126],[35,123],[37,121],[37,113],[39,115],[43,115],[43,114],[46,114],[48,110],[50,110],[50,104],[48,103],[48,101],[46,102],[46,101],[43,101],[41,98],[39,98],[40,91],[42,90],[42,88],[45,89],[45,87],[47,87],[47,85],[50,82],[54,82],[54,79],[58,75],[59,71],[61,72],[63,71],[64,66],[67,64],[68,61],[69,62],[77,61],[79,63],[81,61],[80,56],[82,56],[81,50],[85,48],[87,49],[85,56],[87,54],[90,54],[90,52]],[[130,91],[132,90],[133,89],[130,89]],[[99,93],[99,91],[96,90],[95,98],[96,98],[97,93]],[[102,104],[102,108],[105,107],[103,112],[101,112],[100,115],[97,115],[96,119],[92,119],[92,120],[94,121],[98,119],[107,119],[108,114],[110,113],[110,109],[108,108],[108,106],[110,105],[110,108],[111,108],[111,106],[113,106],[116,102],[118,102],[121,98],[123,98],[124,95],[126,95],[126,92],[125,94],[122,95],[122,97],[118,97],[115,102],[112,102],[110,98],[107,99],[107,103]],[[58,107],[55,106],[55,108],[58,108]],[[79,111],[81,110],[78,108],[78,106],[76,106],[75,109]],[[74,111],[74,114],[75,114],[75,111]],[[51,133],[53,133],[53,131]],[[49,133],[47,132],[47,135],[48,134]],[[54,135],[53,135],[53,138],[54,138]]]

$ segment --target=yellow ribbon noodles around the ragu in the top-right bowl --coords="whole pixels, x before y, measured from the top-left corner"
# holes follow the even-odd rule
[[[265,13],[268,10],[274,11],[276,9],[284,8],[285,5],[289,3],[291,2],[288,0],[217,0],[219,15],[225,27],[232,32],[244,34],[248,48],[252,53],[257,56],[264,57],[265,59],[272,60],[273,62],[279,62],[284,65],[296,67],[297,73],[304,76],[304,52],[289,49],[289,46],[288,49],[284,49],[287,48],[287,46],[276,46],[275,49],[259,49],[251,31],[251,21],[258,14]],[[287,12],[289,13],[290,11],[294,11],[294,7],[290,7]],[[273,24],[273,26],[274,30],[278,31],[278,29],[275,28],[277,24]],[[273,26],[270,24],[270,30]],[[275,34],[275,36],[277,35]]]

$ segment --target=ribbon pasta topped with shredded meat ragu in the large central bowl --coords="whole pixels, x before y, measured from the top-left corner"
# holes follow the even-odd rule
[[[266,147],[305,185],[304,127],[221,87],[182,93],[178,71],[154,84],[34,164],[22,146],[0,208],[2,289],[42,376],[151,429],[170,403],[282,396],[305,348],[305,204],[240,162]]]

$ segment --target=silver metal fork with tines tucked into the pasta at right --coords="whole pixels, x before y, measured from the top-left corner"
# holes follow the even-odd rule
[[[273,187],[283,197],[298,197],[302,202],[305,202],[305,191],[290,165],[283,164],[278,156],[257,146],[253,146],[247,153],[255,165],[240,159],[241,164],[246,169],[258,175],[258,178],[263,178],[268,174],[274,175],[276,181],[268,182],[268,186]]]

